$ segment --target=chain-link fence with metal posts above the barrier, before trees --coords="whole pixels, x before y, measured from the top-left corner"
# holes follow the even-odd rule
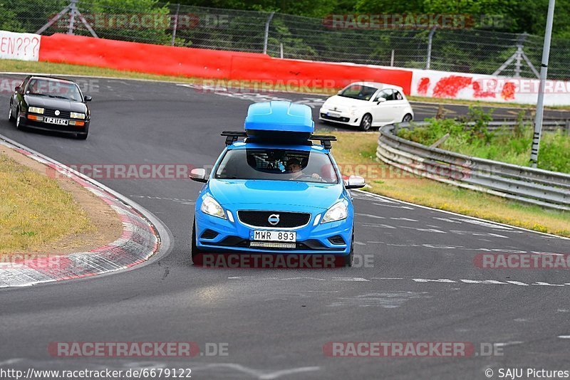
[[[326,19],[152,0],[4,1],[0,28],[13,31],[266,51],[284,58],[533,78],[542,52],[541,36],[489,29],[331,28]],[[554,38],[550,79],[570,79],[569,56],[570,40]]]

